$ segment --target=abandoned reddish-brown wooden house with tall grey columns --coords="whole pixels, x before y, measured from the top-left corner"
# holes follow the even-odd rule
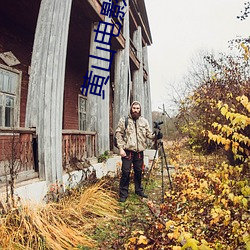
[[[54,183],[71,159],[112,150],[114,128],[133,100],[152,121],[147,57],[152,38],[145,3],[113,2],[122,18],[101,13],[111,1],[1,2],[0,184],[16,162],[20,181]],[[100,21],[113,24],[116,34],[105,45],[114,51],[110,69],[98,72],[109,76],[105,98],[81,91],[93,65],[107,67],[97,59],[104,57],[95,41]]]

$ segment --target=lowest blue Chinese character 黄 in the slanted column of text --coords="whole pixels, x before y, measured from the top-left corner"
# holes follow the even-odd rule
[[[86,72],[86,75],[83,77],[84,78],[84,82],[82,87],[82,95],[87,96],[88,95],[88,90],[89,90],[89,86],[91,86],[89,93],[93,94],[93,95],[98,95],[101,96],[101,91],[102,91],[102,99],[105,98],[105,93],[104,90],[102,90],[103,88],[103,84],[106,85],[108,80],[109,80],[109,76],[106,78],[104,76],[99,76],[99,75],[94,75],[93,79],[92,79],[92,73],[93,71],[90,72],[90,75],[88,75],[88,70]],[[105,80],[105,81],[104,81]],[[100,81],[100,83],[99,83]],[[85,92],[84,92],[85,90]]]

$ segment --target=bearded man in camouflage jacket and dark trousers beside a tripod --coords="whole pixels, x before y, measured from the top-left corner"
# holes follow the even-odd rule
[[[147,147],[147,138],[155,139],[148,121],[141,116],[141,104],[134,101],[130,107],[130,114],[125,125],[125,117],[121,118],[115,131],[117,145],[122,157],[122,175],[119,185],[120,202],[128,197],[130,171],[133,164],[135,193],[147,198],[141,185],[143,151]],[[125,129],[126,127],[126,129]]]

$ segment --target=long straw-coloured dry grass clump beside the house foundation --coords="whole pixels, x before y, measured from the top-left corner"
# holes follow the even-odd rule
[[[118,219],[118,204],[111,191],[99,182],[74,190],[59,203],[22,205],[0,218],[0,249],[93,248],[87,230],[98,220]]]

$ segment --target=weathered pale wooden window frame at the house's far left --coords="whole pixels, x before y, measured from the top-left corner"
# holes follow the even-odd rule
[[[16,86],[16,93],[10,93],[0,90],[0,95],[3,96],[3,100],[6,99],[6,96],[14,97],[14,121],[13,126],[6,127],[5,126],[5,111],[4,111],[4,124],[3,126],[0,125],[0,128],[17,128],[20,127],[20,101],[21,101],[21,84],[22,84],[22,71],[13,69],[9,66],[3,65],[0,63],[0,69],[8,71],[10,73],[14,73],[17,75],[17,86]],[[5,104],[4,104],[4,107]]]

